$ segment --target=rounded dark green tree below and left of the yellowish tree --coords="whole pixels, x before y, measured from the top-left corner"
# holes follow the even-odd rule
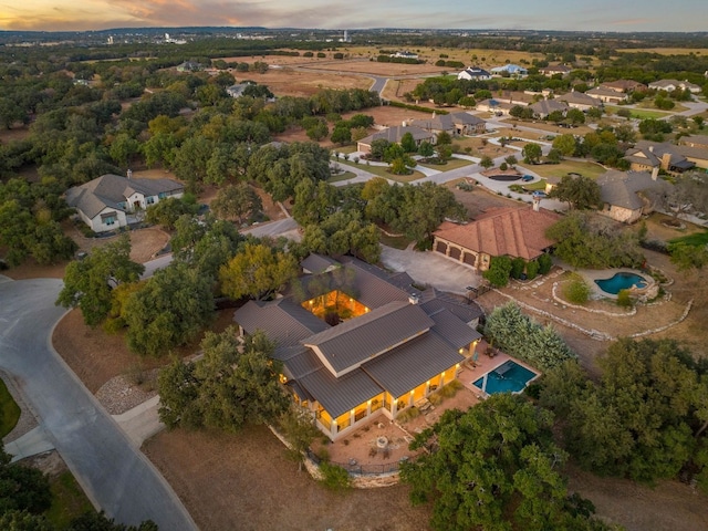
[[[195,340],[214,316],[212,279],[187,263],[159,270],[125,303],[128,347],[159,357]]]

